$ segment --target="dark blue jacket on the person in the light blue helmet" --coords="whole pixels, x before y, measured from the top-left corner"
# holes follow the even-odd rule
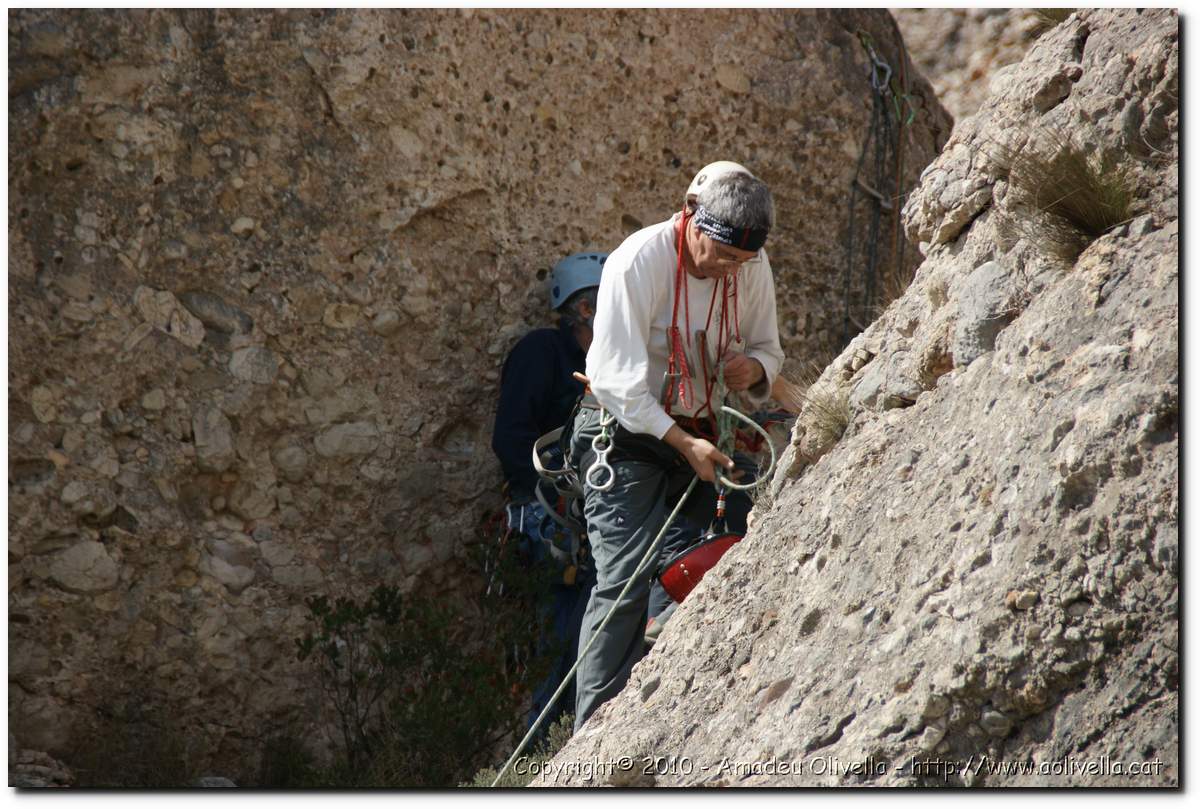
[[[557,329],[527,334],[504,360],[492,450],[515,502],[533,499],[538,485],[533,443],[566,423],[583,392],[571,372],[582,372],[586,359],[574,328],[562,320]]]

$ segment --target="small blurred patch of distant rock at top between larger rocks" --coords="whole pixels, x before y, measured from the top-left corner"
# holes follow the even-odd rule
[[[1019,62],[1055,20],[1069,10],[895,8],[910,58],[934,85],[937,100],[961,120],[988,97],[988,78]]]

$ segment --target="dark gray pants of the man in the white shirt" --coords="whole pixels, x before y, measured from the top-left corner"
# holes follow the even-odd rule
[[[581,480],[595,460],[592,438],[599,432],[599,424],[600,412],[595,409],[581,409],[575,419],[571,455]],[[580,628],[581,652],[608,615],[617,595],[634,575],[695,475],[683,456],[666,443],[620,427],[613,438],[608,462],[617,478],[612,489],[598,492],[584,487],[583,514],[588,522],[596,581]],[[754,469],[749,459],[739,456],[736,462],[739,468],[749,466],[751,472]],[[732,491],[727,499],[728,528],[744,533],[750,499],[742,492]],[[658,558],[632,583],[600,639],[580,659],[575,684],[576,730],[625,687],[629,672],[641,659],[652,580],[659,564],[701,539],[715,510],[716,490],[712,484],[697,484],[667,531]],[[670,603],[661,585],[654,581],[653,586],[656,588],[656,609],[650,615]]]

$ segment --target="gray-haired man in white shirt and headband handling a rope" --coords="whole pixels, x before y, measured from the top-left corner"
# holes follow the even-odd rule
[[[584,648],[686,490],[709,484],[716,449],[716,371],[728,390],[766,401],[784,362],[775,287],[763,250],[774,224],[767,186],[737,163],[713,163],[689,188],[680,214],[629,236],[605,264],[587,376],[590,396],[574,424],[571,457],[584,479],[602,407],[617,420],[608,463],[614,484],[584,487],[596,586],[580,635]],[[739,465],[740,466],[740,465]],[[715,490],[700,485],[672,523],[660,558],[685,547],[713,517]],[[730,496],[730,529],[745,531],[749,498]],[[740,520],[740,526],[734,525]],[[655,588],[659,589],[659,588]],[[649,576],[636,581],[604,635],[580,661],[576,727],[616,695],[642,654],[653,604]]]

